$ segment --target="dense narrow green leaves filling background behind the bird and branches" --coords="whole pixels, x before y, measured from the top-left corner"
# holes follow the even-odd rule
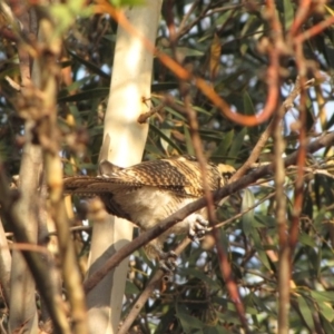
[[[62,9],[70,11],[71,2],[61,4]],[[121,4],[124,1],[112,3],[116,2]],[[292,0],[276,1],[276,4],[283,31],[289,31],[298,7]],[[187,12],[190,13],[186,18]],[[177,28],[177,42],[169,40],[173,30],[166,21],[170,17]],[[314,9],[303,23],[303,29],[310,29],[331,17],[333,3],[323,7],[322,11]],[[117,23],[107,14],[77,17],[75,24],[70,21],[65,23],[60,27],[67,33],[61,52],[58,94],[63,170],[65,175],[95,175],[112,75]],[[303,43],[303,52],[311,63],[308,78],[316,78],[305,96],[305,131],[310,140],[333,130],[333,27],[328,26]],[[205,78],[234,110],[255,115],[263,109],[267,97],[268,58],[259,50],[259,46],[271,33],[266,7],[258,1],[246,4],[242,1],[179,0],[175,1],[173,8],[171,1],[166,1],[157,47],[178,59],[195,76]],[[7,175],[13,176],[19,171],[22,155],[23,122],[17,114],[19,92],[13,90],[6,77],[20,82],[20,72],[17,48],[6,36],[1,39],[0,157]],[[298,73],[294,55],[287,53],[282,58],[279,70],[281,100],[284,101]],[[197,114],[205,156],[216,163],[240,167],[252,155],[269,120],[254,127],[233,122],[199,88],[190,81],[186,85]],[[195,154],[191,128],[184,108],[184,94],[179,88],[177,76],[156,59],[151,102],[159,106],[166,95],[173,102],[149,118],[144,159]],[[297,98],[294,107],[284,116],[284,156],[301,147],[299,101]],[[266,141],[254,168],[276,161],[275,143],[273,137]],[[334,333],[333,149],[328,147],[307,156],[303,170],[304,196],[289,279],[289,325],[296,333]],[[291,166],[285,173],[285,218],[289,227],[295,217],[295,186],[299,169]],[[220,243],[228,254],[233,277],[254,333],[275,333],[277,327],[282,245],[277,233],[275,191],[274,176],[265,176],[257,184],[230,196],[217,210],[218,220],[226,222],[219,229]],[[250,207],[253,209],[249,210]],[[244,210],[246,214],[239,215]],[[77,212],[80,212],[80,204]],[[81,217],[78,217],[78,222],[84,224]],[[6,230],[11,232],[9,222],[3,219],[3,223]],[[90,236],[87,237],[87,232],[76,233],[75,239],[79,261],[85,264]],[[173,249],[179,240],[179,236],[170,236],[168,249]],[[181,254],[175,281],[155,292],[134,328],[141,333],[239,333],[239,314],[222,276],[212,236],[203,243],[205,249],[193,243]],[[154,271],[155,264],[147,259],[141,249],[131,256],[124,315],[129,312]]]

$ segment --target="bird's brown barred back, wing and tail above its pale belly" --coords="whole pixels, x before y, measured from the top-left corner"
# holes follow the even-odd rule
[[[198,163],[188,157],[144,161],[120,168],[104,161],[104,170],[98,177],[77,176],[63,180],[66,193],[81,195],[131,191],[145,186],[168,190],[178,196],[200,197],[204,194],[203,177]],[[100,168],[101,170],[101,168]],[[209,188],[215,190],[225,184],[220,169],[207,165]]]

